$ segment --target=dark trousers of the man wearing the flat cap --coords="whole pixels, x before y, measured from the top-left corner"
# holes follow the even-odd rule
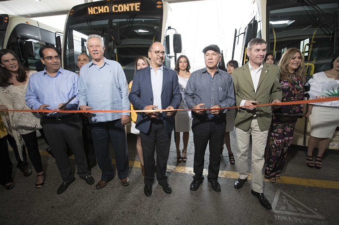
[[[193,179],[203,179],[205,151],[209,142],[208,181],[218,179],[220,169],[220,149],[225,137],[226,117],[222,114],[217,119],[208,120],[204,116],[193,114],[192,132],[194,142]]]

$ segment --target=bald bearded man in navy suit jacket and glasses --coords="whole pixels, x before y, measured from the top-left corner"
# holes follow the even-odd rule
[[[138,113],[136,128],[140,130],[145,166],[146,196],[152,195],[154,183],[154,152],[157,150],[157,180],[165,193],[172,193],[166,176],[169,146],[173,131],[175,111],[181,101],[179,83],[175,71],[163,66],[165,48],[160,42],[153,43],[148,51],[150,67],[137,70],[128,96],[137,110],[158,109],[157,112]]]

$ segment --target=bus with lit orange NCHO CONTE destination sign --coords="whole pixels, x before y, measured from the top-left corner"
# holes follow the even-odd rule
[[[170,28],[170,11],[169,3],[161,0],[95,1],[74,6],[64,30],[63,68],[78,70],[76,57],[88,54],[86,39],[90,34],[103,38],[105,57],[121,64],[128,81],[134,77],[135,60],[147,56],[155,41],[164,44],[165,66],[173,68],[172,58],[181,52],[181,36]]]

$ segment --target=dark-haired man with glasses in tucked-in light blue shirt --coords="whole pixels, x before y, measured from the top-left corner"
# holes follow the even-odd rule
[[[44,71],[31,75],[25,95],[26,105],[31,109],[56,109],[71,99],[62,110],[76,110],[78,105],[78,75],[60,67],[60,56],[52,46],[39,50]],[[87,169],[88,164],[82,143],[81,119],[76,113],[41,113],[41,126],[50,144],[58,165],[62,184],[57,190],[61,194],[75,180],[67,155],[67,145],[75,155],[77,172],[87,184],[94,184],[94,178]]]

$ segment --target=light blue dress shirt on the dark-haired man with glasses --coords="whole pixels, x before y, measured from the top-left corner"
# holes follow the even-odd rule
[[[42,104],[49,105],[48,109],[58,108],[60,103],[65,103],[76,95],[66,105],[66,110],[77,110],[78,106],[78,78],[73,72],[60,68],[55,76],[44,71],[30,76],[25,95],[26,105],[31,109],[38,109]],[[49,113],[47,116],[62,116],[66,113]]]

